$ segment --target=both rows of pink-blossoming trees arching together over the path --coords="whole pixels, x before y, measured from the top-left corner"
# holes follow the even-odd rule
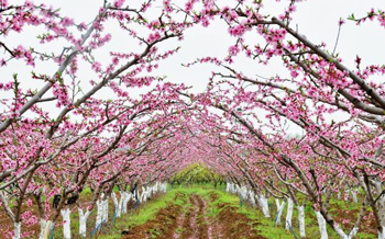
[[[293,30],[297,1],[289,1],[279,18],[264,13],[262,1],[180,4],[105,1],[86,24],[44,4],[1,1],[1,67],[47,66],[42,72],[18,70],[0,83],[0,200],[13,224],[13,231],[4,234],[21,238],[28,232],[21,225],[38,218],[44,238],[59,216],[69,218],[68,204],[84,189],[92,189],[94,196],[87,208],[78,206],[81,225],[97,206],[97,226],[110,197],[124,210],[127,198],[139,196],[128,187],[143,185],[140,196],[146,198],[158,182],[199,162],[227,179],[229,192],[260,205],[266,217],[268,197],[284,198],[289,212],[296,205],[302,237],[304,204],[310,202],[322,238],[328,237],[326,224],[341,238],[353,238],[369,208],[378,238],[385,238],[385,98],[383,82],[373,80],[385,68],[364,67],[358,58],[356,69],[349,69],[327,46]],[[384,15],[373,10],[351,20],[383,25]],[[207,56],[186,65],[220,67],[205,92],[190,94],[185,86],[151,73],[179,49],[164,43],[182,41],[186,29],[212,21],[224,21],[235,44],[224,59]],[[110,42],[120,33],[109,32],[110,24],[135,47],[114,50]],[[44,31],[40,45],[7,42],[30,27]],[[64,47],[45,52],[53,43]],[[255,65],[280,59],[283,75],[246,76],[232,64],[241,56]],[[46,72],[52,66],[57,69]],[[134,96],[135,91],[141,94]],[[287,125],[302,134],[293,137]],[[341,227],[329,206],[346,189],[361,192],[362,208],[352,228]],[[37,214],[25,205],[35,205]],[[284,205],[277,202],[277,207]],[[81,229],[86,236],[87,228]]]

